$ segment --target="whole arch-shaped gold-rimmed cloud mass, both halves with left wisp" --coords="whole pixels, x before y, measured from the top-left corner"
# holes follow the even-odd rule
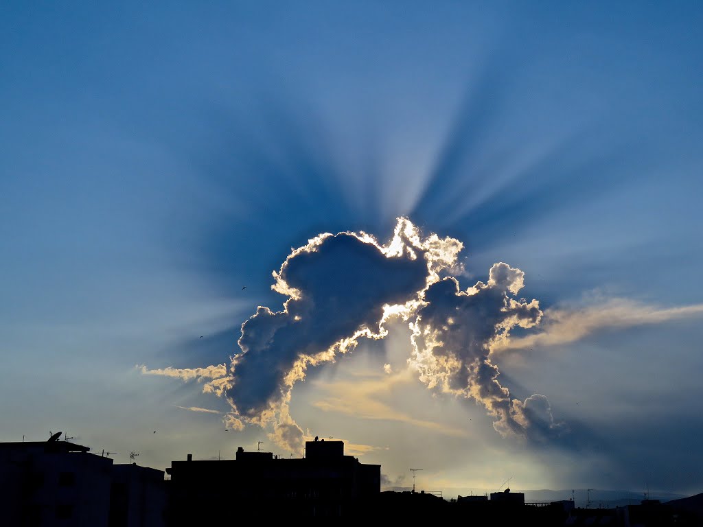
[[[461,290],[452,275],[463,274],[458,261],[462,249],[459,240],[424,235],[405,218],[398,219],[385,245],[363,232],[323,233],[292,249],[273,272],[272,289],[286,297],[283,309],[257,308],[241,325],[241,351],[228,367],[141,370],[199,382],[209,379],[203,391],[224,395],[231,405],[224,417],[228,428],[270,427],[271,441],[302,453],[306,434],[289,412],[294,384],[306,377],[309,367],[353,351],[361,337],[384,338],[385,322],[399,318],[412,331],[411,371],[428,387],[481,403],[503,435],[557,434],[562,427],[554,422],[546,398],[511,398],[491,363],[491,352],[508,340],[512,328],[530,328],[541,319],[538,301],[516,297],[524,273],[496,263],[486,283]],[[395,375],[389,365],[385,373],[380,382]],[[341,399],[320,404],[337,411],[345,408]],[[356,405],[355,411],[360,408]],[[363,408],[369,418],[397,418],[396,412],[370,398]],[[411,416],[402,418],[415,422]]]

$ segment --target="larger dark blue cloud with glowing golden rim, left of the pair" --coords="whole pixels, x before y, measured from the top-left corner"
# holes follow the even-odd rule
[[[276,438],[290,448],[294,422],[285,411],[295,382],[307,368],[352,351],[360,337],[380,339],[389,316],[418,303],[439,273],[456,266],[462,244],[423,237],[407,219],[382,245],[367,233],[325,233],[295,249],[278,272],[274,290],[288,299],[283,311],[260,306],[242,325],[242,353],[233,357],[226,390],[233,414],[243,422],[273,423]],[[283,432],[286,432],[285,434]],[[297,451],[302,448],[302,441]]]

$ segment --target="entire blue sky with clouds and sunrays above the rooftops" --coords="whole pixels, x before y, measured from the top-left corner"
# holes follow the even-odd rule
[[[3,2],[0,441],[702,492],[702,24]]]

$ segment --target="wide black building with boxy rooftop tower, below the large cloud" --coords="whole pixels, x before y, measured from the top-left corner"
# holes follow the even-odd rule
[[[166,469],[169,522],[226,521],[241,509],[262,518],[350,516],[380,493],[380,470],[344,455],[342,441],[307,441],[302,458],[241,447],[235,460],[193,461],[189,454]]]

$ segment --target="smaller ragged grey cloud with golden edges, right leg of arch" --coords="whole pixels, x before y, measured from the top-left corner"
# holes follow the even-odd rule
[[[494,347],[508,340],[512,328],[534,327],[541,320],[538,301],[513,296],[523,285],[524,273],[503,262],[491,267],[487,283],[465,290],[452,277],[430,285],[411,323],[409,362],[431,389],[483,405],[503,436],[545,440],[565,431],[554,422],[546,397],[512,398],[491,363]]]

